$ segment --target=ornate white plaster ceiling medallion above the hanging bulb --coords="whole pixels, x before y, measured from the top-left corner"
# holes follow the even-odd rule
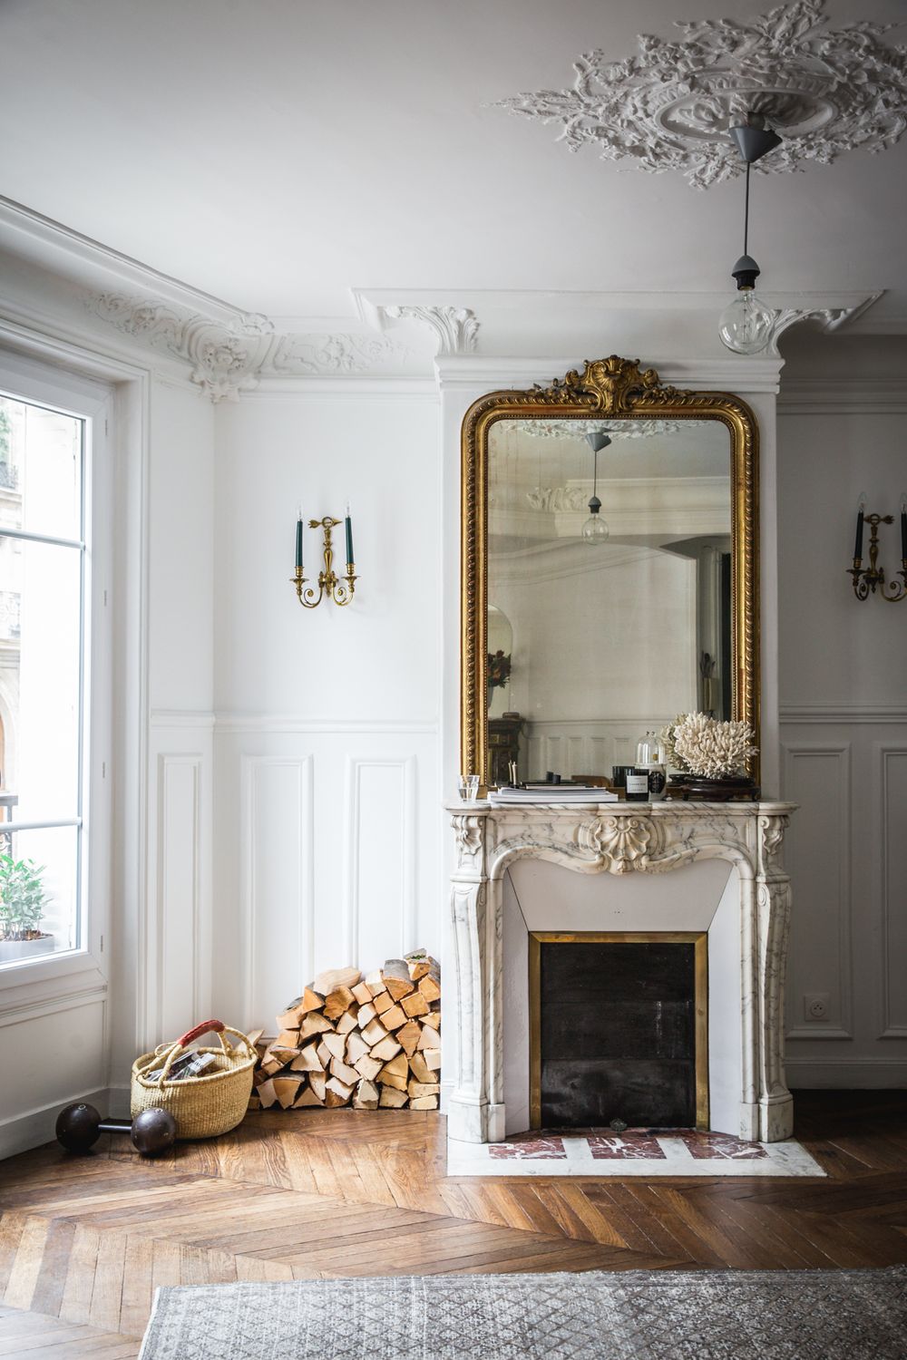
[[[855,147],[883,151],[907,128],[907,46],[883,42],[893,24],[828,29],[823,4],[794,0],[749,23],[676,23],[677,42],[640,35],[640,54],[623,61],[586,52],[574,63],[572,90],[519,94],[495,107],[563,124],[558,140],[570,151],[594,146],[602,160],[683,170],[696,189],[741,174],[726,133],[748,112],[785,137],[772,171],[829,163]]]

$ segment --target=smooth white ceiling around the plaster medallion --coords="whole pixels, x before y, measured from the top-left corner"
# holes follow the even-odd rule
[[[571,155],[491,107],[679,18],[771,0],[3,0],[3,193],[272,318],[364,290],[730,290],[742,182]],[[903,0],[827,0],[899,23]],[[766,291],[889,290],[907,329],[907,136],[753,182]]]

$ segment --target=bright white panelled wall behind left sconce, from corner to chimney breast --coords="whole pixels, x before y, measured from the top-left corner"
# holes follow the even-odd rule
[[[234,1023],[271,1025],[321,968],[441,949],[438,453],[431,384],[218,411],[213,996]],[[296,505],[347,498],[355,598],[303,609]]]

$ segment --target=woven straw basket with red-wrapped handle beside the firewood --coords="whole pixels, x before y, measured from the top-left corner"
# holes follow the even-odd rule
[[[179,1054],[209,1030],[220,1039],[220,1047],[199,1051],[220,1055],[218,1072],[169,1081],[170,1068]],[[239,1042],[227,1043],[226,1034]],[[160,1076],[148,1081],[144,1073],[160,1068],[162,1058]],[[223,1020],[204,1020],[175,1043],[159,1043],[154,1053],[143,1053],[132,1064],[132,1118],[143,1110],[169,1110],[177,1121],[178,1138],[213,1138],[219,1133],[228,1133],[237,1127],[249,1106],[254,1065],[256,1050],[245,1034],[231,1030]]]

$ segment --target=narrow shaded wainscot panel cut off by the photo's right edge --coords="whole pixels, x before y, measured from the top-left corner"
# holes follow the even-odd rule
[[[881,913],[881,1032],[880,1039],[907,1039],[907,851],[904,813],[907,811],[907,745],[873,748],[877,790],[876,824],[880,834],[878,910]],[[899,767],[899,768],[897,768]],[[900,789],[892,785],[899,778]],[[895,932],[900,941],[892,945]],[[897,986],[897,982],[900,986]]]

